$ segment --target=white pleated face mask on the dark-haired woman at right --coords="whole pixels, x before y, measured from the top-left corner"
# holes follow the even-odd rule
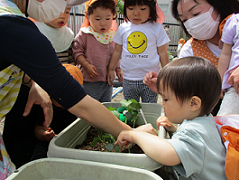
[[[216,21],[212,18],[213,7],[208,12],[188,19],[184,26],[189,34],[198,40],[207,40],[215,36],[218,31],[220,16]]]

